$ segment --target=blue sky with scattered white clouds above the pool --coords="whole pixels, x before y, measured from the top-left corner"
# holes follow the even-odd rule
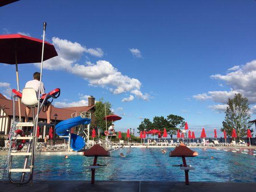
[[[112,104],[117,131],[144,118],[182,116],[213,136],[229,97],[243,93],[256,119],[255,0],[20,0],[0,7],[0,34],[53,43],[44,62],[46,91],[61,88],[55,107]],[[39,71],[19,65],[20,87]],[[0,93],[16,88],[15,66],[0,64]]]

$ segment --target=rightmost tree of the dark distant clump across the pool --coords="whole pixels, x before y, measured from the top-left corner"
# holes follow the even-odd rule
[[[172,139],[172,135],[176,134],[179,128],[185,126],[185,121],[183,117],[172,114],[167,116],[167,121],[169,122],[169,127],[166,127],[166,131]],[[178,125],[180,125],[179,128]]]

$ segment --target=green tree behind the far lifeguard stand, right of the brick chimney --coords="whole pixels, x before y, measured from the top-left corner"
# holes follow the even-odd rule
[[[96,125],[101,129],[105,130],[106,129],[106,120],[103,118],[105,117],[105,105],[106,105],[106,112],[107,115],[112,115],[111,112],[111,104],[108,101],[104,101],[103,98],[101,98],[98,102],[95,104],[95,122]],[[112,122],[107,121],[107,127],[109,127],[112,124]],[[96,126],[92,125],[92,126]]]

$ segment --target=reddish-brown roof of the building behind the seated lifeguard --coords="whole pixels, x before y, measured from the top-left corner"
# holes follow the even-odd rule
[[[8,116],[12,116],[13,115],[13,107],[12,107],[12,100],[7,99],[6,97],[4,97],[3,95],[0,94],[0,107],[4,108],[5,113]],[[84,109],[83,111],[87,111],[86,109],[91,109],[94,106],[84,106],[84,107],[77,107],[77,109],[81,108],[81,111],[77,110],[76,108],[55,108],[52,105],[51,108],[51,120],[54,120],[54,115],[57,114],[57,120],[66,120],[71,118],[71,114],[74,112],[82,112],[82,108]],[[35,111],[37,111],[37,108],[35,108]],[[19,109],[18,109],[18,102],[15,101],[15,116],[19,116]],[[25,117],[25,105],[21,104],[21,116]],[[32,118],[32,112],[30,112],[29,117]],[[39,119],[47,119],[46,113],[45,112],[40,112],[39,114]]]

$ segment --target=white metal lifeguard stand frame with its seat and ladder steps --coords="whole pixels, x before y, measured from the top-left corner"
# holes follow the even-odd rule
[[[11,142],[11,146],[10,146],[9,153],[8,153],[8,177],[12,183],[25,184],[25,183],[28,183],[30,180],[33,180],[35,152],[36,152],[36,143],[37,143],[37,137],[36,137],[37,125],[35,122],[37,122],[38,114],[40,113],[45,102],[49,98],[51,98],[51,97],[57,98],[59,95],[58,96],[52,96],[52,95],[45,96],[41,102],[41,105],[39,106],[38,114],[35,117],[34,111],[35,111],[35,107],[37,107],[37,103],[38,103],[36,91],[33,88],[24,88],[23,94],[21,94],[20,92],[17,92],[15,89],[13,89],[12,92],[16,95],[13,96],[13,125],[12,125],[11,134],[10,134],[10,140],[12,141],[12,140],[24,140],[25,139],[25,140],[29,140],[29,141],[28,141],[28,146],[27,146],[26,152],[17,152],[15,150],[16,147],[12,148],[12,142]],[[18,95],[17,95],[17,93],[18,93]],[[15,123],[15,99],[17,96],[22,99],[22,103],[24,105],[32,108],[33,122]],[[23,136],[13,137],[13,133],[15,132],[17,127],[33,127],[33,128],[31,129],[30,136],[28,136],[28,137],[23,137]],[[23,168],[12,168],[12,161],[14,160],[13,156],[25,156]],[[30,163],[28,165],[29,160],[30,160]],[[13,172],[22,173],[20,181],[15,181],[12,179]],[[27,180],[25,180],[26,173],[29,173],[29,177]]]

